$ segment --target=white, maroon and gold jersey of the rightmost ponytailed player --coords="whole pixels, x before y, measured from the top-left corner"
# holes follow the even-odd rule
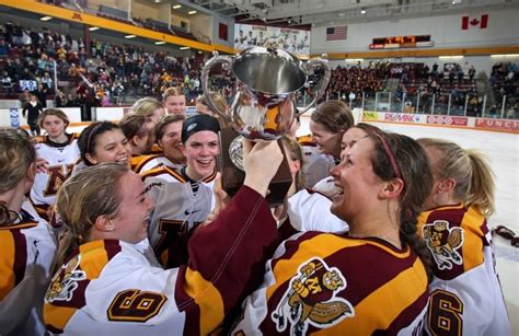
[[[485,217],[474,207],[423,212],[418,232],[432,253],[430,335],[510,335]]]

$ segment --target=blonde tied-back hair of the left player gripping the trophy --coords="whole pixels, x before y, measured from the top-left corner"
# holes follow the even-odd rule
[[[90,231],[100,216],[107,219],[117,216],[119,179],[128,172],[129,169],[120,163],[102,163],[80,171],[61,185],[56,198],[56,212],[68,232],[59,242],[58,267],[76,244],[89,241]]]

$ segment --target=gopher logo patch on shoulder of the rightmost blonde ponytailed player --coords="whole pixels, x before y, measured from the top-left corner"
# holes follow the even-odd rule
[[[463,245],[463,229],[449,228],[446,220],[435,220],[423,228],[424,240],[432,252],[439,269],[452,269],[452,264],[461,265],[463,258],[458,250]]]

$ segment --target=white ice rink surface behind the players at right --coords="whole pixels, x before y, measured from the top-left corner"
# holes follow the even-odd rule
[[[301,118],[299,135],[310,134],[308,120],[305,116]],[[415,139],[440,138],[454,141],[464,149],[477,149],[485,153],[496,183],[496,213],[488,219],[489,228],[506,225],[519,234],[519,135],[412,124],[370,124]],[[519,335],[519,248],[498,236],[495,236],[494,242],[497,271],[512,335]]]

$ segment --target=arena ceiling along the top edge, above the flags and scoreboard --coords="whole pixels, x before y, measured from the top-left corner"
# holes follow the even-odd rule
[[[172,0],[233,16],[237,21],[262,20],[267,24],[330,25],[410,16],[505,9],[519,0]]]

